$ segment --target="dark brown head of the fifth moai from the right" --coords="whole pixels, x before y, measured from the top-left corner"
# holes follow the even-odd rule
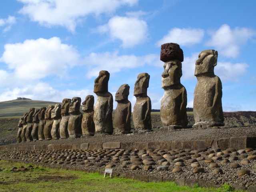
[[[94,80],[94,93],[108,92],[108,80],[110,74],[108,71],[100,71],[99,76]]]

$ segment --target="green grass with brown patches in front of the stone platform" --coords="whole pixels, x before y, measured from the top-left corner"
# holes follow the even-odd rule
[[[177,186],[174,182],[140,182],[126,178],[106,178],[98,173],[88,174],[82,171],[55,170],[17,162],[0,160],[0,192],[216,192],[230,191],[223,186],[219,189]],[[11,171],[13,167],[20,172]],[[26,168],[28,170],[26,170]]]

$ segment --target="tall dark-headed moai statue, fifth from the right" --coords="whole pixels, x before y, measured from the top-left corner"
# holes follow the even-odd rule
[[[93,92],[97,95],[93,115],[95,134],[113,133],[113,96],[108,92],[109,77],[108,71],[100,71],[99,76],[94,81]]]

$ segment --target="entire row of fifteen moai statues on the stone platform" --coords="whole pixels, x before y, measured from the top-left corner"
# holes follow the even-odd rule
[[[222,84],[214,74],[218,52],[204,50],[196,60],[195,76],[198,79],[194,90],[193,128],[224,126],[222,112]],[[160,60],[164,62],[162,85],[164,96],[161,100],[160,116],[162,124],[170,129],[188,128],[186,114],[187,93],[180,83],[184,56],[180,46],[167,43],[161,46]],[[94,96],[88,95],[82,102],[81,98],[64,99],[62,106],[42,107],[40,110],[31,108],[18,123],[17,142],[32,140],[50,140],[59,138],[78,138],[94,134],[127,134],[131,132],[131,103],[128,100],[130,86],[123,84],[116,92],[118,103],[114,121],[112,121],[113,96],[108,92],[108,71],[100,71],[94,81]],[[140,132],[152,131],[151,100],[147,95],[150,75],[141,73],[134,84],[136,103],[133,108],[134,129]]]

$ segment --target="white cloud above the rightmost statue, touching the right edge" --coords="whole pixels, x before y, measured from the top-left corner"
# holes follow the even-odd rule
[[[217,31],[211,32],[212,39],[206,43],[213,46],[220,54],[236,58],[240,54],[240,46],[250,38],[256,36],[256,31],[248,28],[230,29],[227,24],[222,25]]]

